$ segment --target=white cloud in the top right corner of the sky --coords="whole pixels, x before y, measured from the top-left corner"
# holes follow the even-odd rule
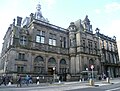
[[[105,11],[107,13],[117,11],[117,10],[120,10],[120,3],[113,2],[113,3],[105,5]]]

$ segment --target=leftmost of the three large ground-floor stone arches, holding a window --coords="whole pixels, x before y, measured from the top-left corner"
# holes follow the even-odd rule
[[[45,72],[45,62],[42,56],[37,56],[33,62],[34,72],[43,74]]]

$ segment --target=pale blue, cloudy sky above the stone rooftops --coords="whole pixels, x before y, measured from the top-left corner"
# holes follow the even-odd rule
[[[101,33],[120,40],[120,0],[1,0],[0,50],[13,19],[35,13],[38,2],[43,16],[54,25],[67,28],[70,22],[83,20],[88,15],[93,31],[98,27]]]

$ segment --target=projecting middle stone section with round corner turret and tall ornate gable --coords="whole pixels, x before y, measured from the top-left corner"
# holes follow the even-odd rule
[[[85,19],[71,22],[69,26],[69,55],[70,73],[75,75],[84,74],[92,71],[100,74],[99,38],[93,34],[92,25],[88,16]]]

